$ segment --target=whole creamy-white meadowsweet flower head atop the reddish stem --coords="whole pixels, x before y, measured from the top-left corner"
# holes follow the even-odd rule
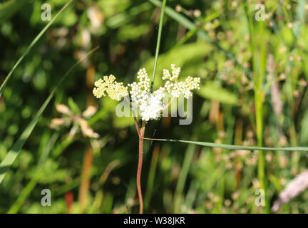
[[[165,86],[158,88],[150,93],[150,78],[145,68],[138,71],[138,83],[128,84],[130,90],[130,98],[133,108],[138,108],[140,118],[142,120],[157,120],[164,109],[163,97],[165,93],[170,93],[173,97],[183,94],[185,98],[189,98],[193,93],[191,90],[200,89],[200,78],[192,78],[188,76],[185,81],[178,81],[180,68],[171,64],[172,75],[166,69],[163,70],[163,80],[167,80]],[[128,95],[128,87],[123,83],[117,83],[116,77],[113,75],[105,76],[104,80],[98,80],[95,83],[97,88],[93,89],[96,98],[105,96],[105,91],[114,100],[120,100],[122,96]]]

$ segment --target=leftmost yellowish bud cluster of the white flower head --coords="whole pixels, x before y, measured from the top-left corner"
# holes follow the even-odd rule
[[[123,96],[128,95],[128,88],[123,86],[123,83],[118,83],[116,77],[112,74],[110,76],[104,76],[103,79],[99,79],[94,83],[94,86],[96,88],[93,88],[93,95],[96,98],[106,96],[105,92],[113,100],[120,100]]]

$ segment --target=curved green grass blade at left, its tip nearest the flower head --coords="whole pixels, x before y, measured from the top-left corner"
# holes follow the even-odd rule
[[[61,85],[61,83],[63,82],[63,80],[66,78],[66,76],[68,76],[69,73],[71,73],[71,71],[73,71],[73,68],[75,68],[79,63],[81,63],[81,61],[83,61],[87,56],[91,55],[91,53],[93,53],[94,51],[96,51],[96,49],[98,48],[98,46],[96,48],[94,48],[92,51],[88,52],[85,56],[83,56],[83,58],[81,58],[80,60],[78,60],[67,72],[66,74],[61,78],[61,80],[58,82],[58,85],[53,88],[53,90],[51,91],[51,93],[48,95],[48,98],[46,98],[45,102],[43,103],[43,105],[41,105],[41,108],[39,109],[39,111],[36,113],[36,115],[34,116],[34,118],[31,120],[31,122],[29,123],[29,125],[26,127],[26,129],[24,130],[23,133],[21,133],[21,136],[19,137],[19,139],[14,143],[14,145],[11,147],[11,150],[9,150],[8,154],[6,155],[6,157],[4,157],[4,160],[2,160],[1,164],[0,164],[0,184],[2,182],[2,180],[4,179],[7,170],[9,170],[9,167],[11,167],[11,165],[13,164],[14,160],[16,159],[17,155],[19,155],[19,152],[21,150],[21,147],[23,147],[24,143],[26,142],[26,140],[29,138],[29,136],[32,133],[32,130],[34,130],[36,123],[38,123],[39,118],[41,117],[43,111],[45,110],[46,106],[48,105],[48,103],[51,101],[51,98],[53,98],[54,93],[56,92],[56,90],[58,89],[58,87]]]

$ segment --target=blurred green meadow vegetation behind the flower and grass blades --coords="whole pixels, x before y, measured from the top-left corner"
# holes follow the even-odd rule
[[[257,145],[252,57],[259,53],[251,46],[253,39],[265,51],[259,59],[264,63],[262,144],[308,145],[307,2],[258,1],[265,4],[262,28],[255,21],[257,1],[248,2],[167,1],[155,87],[162,85],[163,68],[171,63],[182,68],[180,78],[198,76],[202,86],[193,96],[193,123],[179,125],[179,118],[170,117],[153,120],[146,136]],[[42,4],[50,4],[55,16],[67,1],[0,3],[2,83],[48,23],[41,20]],[[16,68],[0,98],[0,160],[66,71],[100,46],[63,81],[7,172],[0,185],[1,213],[138,212],[133,118],[116,117],[117,103],[95,99],[92,90],[94,81],[109,74],[125,84],[135,80],[139,68],[152,76],[157,3],[73,1]],[[249,19],[255,24],[254,37]],[[57,104],[71,113],[59,113],[66,108],[57,110]],[[91,105],[98,110],[85,117],[83,111]],[[80,125],[99,137],[86,135]],[[260,188],[257,152],[150,141],[144,148],[146,213],[266,211],[255,205],[255,190]],[[287,183],[307,169],[307,160],[306,152],[265,152],[267,212]],[[43,189],[51,190],[51,207],[41,205]],[[278,212],[307,213],[307,199],[304,191]]]

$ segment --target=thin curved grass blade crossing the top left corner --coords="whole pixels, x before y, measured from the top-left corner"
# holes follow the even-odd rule
[[[27,53],[29,53],[29,51],[31,50],[31,48],[36,44],[37,41],[39,41],[39,39],[41,38],[41,36],[43,36],[43,33],[46,32],[46,30],[51,26],[51,24],[53,24],[53,21],[56,20],[56,18],[62,13],[62,11],[64,9],[66,9],[66,7],[71,4],[73,0],[68,1],[68,3],[62,7],[62,9],[60,11],[58,11],[58,14],[56,14],[56,16],[53,17],[53,19],[51,21],[49,21],[49,23],[42,29],[42,31],[39,33],[39,35],[36,36],[36,38],[34,38],[34,40],[30,43],[30,45],[28,46],[28,48],[26,48],[26,51],[24,51],[24,53],[22,54],[22,56],[19,58],[19,60],[15,63],[15,65],[13,66],[13,68],[11,69],[11,71],[9,72],[9,74],[6,76],[6,79],[4,80],[4,82],[1,84],[0,86],[0,97],[2,95],[2,93],[4,92],[4,88],[6,86],[6,83],[9,81],[9,79],[11,78],[12,73],[15,71],[16,67],[19,66],[19,63],[21,63],[21,61],[24,59],[24,57],[26,56]]]

